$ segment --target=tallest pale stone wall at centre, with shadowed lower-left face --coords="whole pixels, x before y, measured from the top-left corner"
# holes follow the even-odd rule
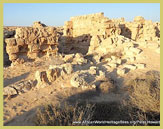
[[[62,40],[61,48],[64,53],[86,54],[92,36],[107,38],[114,34],[120,34],[120,28],[104,13],[71,17],[64,25],[65,40]]]

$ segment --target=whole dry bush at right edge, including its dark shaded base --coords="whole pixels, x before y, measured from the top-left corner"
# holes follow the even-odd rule
[[[159,72],[149,71],[144,77],[130,80],[127,89],[129,99],[123,102],[123,106],[127,107],[131,120],[160,121]]]

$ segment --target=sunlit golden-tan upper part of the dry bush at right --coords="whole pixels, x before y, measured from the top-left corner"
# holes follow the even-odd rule
[[[160,78],[148,72],[144,79],[136,78],[128,83],[130,103],[143,112],[160,112]]]

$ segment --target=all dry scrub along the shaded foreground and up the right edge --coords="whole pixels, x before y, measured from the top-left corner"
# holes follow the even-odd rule
[[[63,106],[46,105],[38,109],[36,125],[48,126],[106,126],[122,123],[82,123],[83,121],[137,121],[125,125],[159,125],[146,123],[160,120],[159,74],[148,72],[144,78],[136,78],[127,83],[129,96],[123,102],[65,103]],[[108,93],[107,93],[108,94]],[[81,123],[73,123],[79,121]],[[143,123],[144,122],[144,123]]]

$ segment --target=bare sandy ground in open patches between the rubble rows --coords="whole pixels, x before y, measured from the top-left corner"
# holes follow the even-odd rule
[[[143,70],[129,71],[122,77],[122,81],[134,78],[149,71],[160,71],[160,54],[149,48],[142,48],[140,59],[137,62],[146,63]],[[34,79],[35,71],[45,70],[50,64],[59,62],[57,59],[38,59],[35,62],[28,62],[15,67],[4,68],[4,86],[16,84],[20,81]],[[110,95],[99,95],[94,90],[82,90],[72,88],[70,85],[71,75],[58,78],[52,85],[41,89],[33,89],[27,93],[20,94],[11,99],[4,99],[4,123],[5,125],[34,125],[32,117],[36,108],[45,103],[61,103],[65,99],[90,99],[92,101],[119,101],[125,93]]]

